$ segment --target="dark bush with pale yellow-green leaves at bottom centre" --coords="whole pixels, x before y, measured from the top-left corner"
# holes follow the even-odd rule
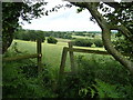
[[[76,73],[65,74],[59,88],[60,98],[96,98],[95,74],[91,67],[79,67]]]

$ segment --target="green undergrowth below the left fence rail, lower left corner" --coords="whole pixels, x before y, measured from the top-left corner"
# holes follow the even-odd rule
[[[23,52],[24,54],[25,52]],[[11,49],[4,57],[18,56]],[[34,60],[19,60],[3,62],[2,67],[2,97],[4,98],[52,98],[52,76],[50,67],[43,66],[43,71],[38,74],[38,67]]]

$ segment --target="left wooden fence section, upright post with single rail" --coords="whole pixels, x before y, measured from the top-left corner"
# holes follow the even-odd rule
[[[22,59],[29,59],[29,58],[37,58],[38,73],[40,73],[42,71],[42,46],[40,40],[37,40],[37,53],[3,58],[2,61],[8,62],[8,61],[22,60]]]

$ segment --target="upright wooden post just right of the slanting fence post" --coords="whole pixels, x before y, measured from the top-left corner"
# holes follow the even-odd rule
[[[70,41],[69,42],[69,49],[73,48],[73,43]],[[71,62],[71,71],[74,72],[75,71],[75,66],[74,66],[74,54],[73,51],[70,51],[70,62]]]

